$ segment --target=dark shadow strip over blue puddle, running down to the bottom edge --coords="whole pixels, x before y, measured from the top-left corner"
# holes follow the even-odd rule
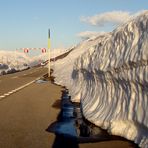
[[[52,148],[79,148],[73,107],[67,92],[62,91],[61,99],[55,101],[52,107],[61,109],[57,120],[46,129],[56,135]]]

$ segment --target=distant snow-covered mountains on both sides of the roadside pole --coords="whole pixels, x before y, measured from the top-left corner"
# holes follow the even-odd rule
[[[70,48],[71,49],[71,48]],[[54,49],[50,50],[50,58],[52,61],[59,59],[62,55],[69,52],[70,49]],[[14,73],[25,70],[33,66],[41,65],[49,58],[48,51],[34,57],[30,57],[18,51],[0,51],[0,75]],[[52,63],[51,63],[52,65]]]

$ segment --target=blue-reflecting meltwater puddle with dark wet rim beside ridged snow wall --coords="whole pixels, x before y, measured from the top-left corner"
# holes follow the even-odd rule
[[[58,107],[61,107],[61,112],[57,117],[57,121],[50,124],[46,131],[62,135],[68,140],[75,139],[77,143],[109,139],[108,135],[104,134],[99,127],[91,127],[83,119],[80,104],[72,103],[66,91],[62,93],[61,101],[59,102],[58,100],[58,105]]]

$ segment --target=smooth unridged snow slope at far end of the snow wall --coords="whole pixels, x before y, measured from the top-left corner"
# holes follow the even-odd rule
[[[109,36],[109,34],[106,34],[106,36]],[[92,46],[97,45],[97,43],[100,41],[100,38],[95,39],[88,39],[86,41],[81,42],[76,47],[73,47],[72,50],[66,56],[64,59],[60,59],[54,63],[54,76],[55,76],[55,82],[57,84],[61,84],[63,86],[67,86],[69,89],[73,85],[73,79],[72,79],[72,71],[73,71],[73,65],[76,59],[88,51],[89,48]],[[70,89],[72,90],[72,89]]]

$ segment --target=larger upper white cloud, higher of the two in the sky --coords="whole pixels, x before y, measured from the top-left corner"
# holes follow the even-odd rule
[[[130,12],[126,11],[112,11],[97,14],[91,17],[81,17],[82,22],[89,23],[94,26],[103,27],[106,24],[122,24],[131,18]]]

